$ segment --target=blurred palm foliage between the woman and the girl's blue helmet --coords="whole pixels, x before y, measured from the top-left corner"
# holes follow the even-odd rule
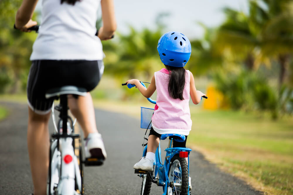
[[[150,78],[154,71],[161,65],[157,51],[158,40],[161,37],[161,30],[152,32],[144,29],[138,32],[130,27],[130,33],[119,34],[118,42],[113,40],[112,46],[103,45],[108,59],[105,71],[128,77],[135,77],[139,73]],[[110,47],[109,47],[110,46]],[[111,56],[111,57],[110,57]]]

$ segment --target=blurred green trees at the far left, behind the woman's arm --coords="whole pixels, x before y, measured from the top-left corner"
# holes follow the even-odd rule
[[[23,33],[13,29],[16,11],[21,2],[21,0],[3,0],[0,4],[0,70],[2,74],[9,75],[9,80],[13,81],[10,90],[12,93],[20,89],[22,75],[28,74],[29,56],[36,37],[35,33]]]

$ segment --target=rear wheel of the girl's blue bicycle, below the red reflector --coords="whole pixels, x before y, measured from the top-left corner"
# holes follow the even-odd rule
[[[179,155],[176,154],[175,156],[173,156],[170,163],[171,165],[168,171],[169,181],[175,182],[175,183],[181,182],[181,187],[168,187],[168,195],[173,195],[173,194],[188,195],[189,175],[188,175],[188,165],[187,165],[186,159],[180,158]]]

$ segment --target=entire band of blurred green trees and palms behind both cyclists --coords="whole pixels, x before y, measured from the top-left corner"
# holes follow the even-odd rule
[[[23,93],[30,68],[29,57],[36,38],[34,32],[13,29],[21,0],[2,0],[0,4],[0,93]],[[273,119],[293,112],[293,2],[291,0],[250,0],[249,12],[223,8],[226,20],[218,27],[204,29],[201,39],[190,40],[192,54],[186,69],[195,77],[205,78],[207,96],[214,96],[206,109],[235,109],[270,112]],[[34,14],[38,19],[39,13]],[[126,99],[137,90],[121,88],[130,78],[149,81],[163,68],[156,47],[165,32],[161,13],[154,21],[156,30],[137,31],[129,26],[129,34],[117,32],[115,38],[103,42],[105,78],[111,78],[119,95],[104,87],[93,92],[96,98],[115,96]],[[101,26],[101,20],[97,27]],[[198,84],[196,83],[196,86]],[[207,87],[212,87],[207,90]],[[114,87],[115,88],[115,87]],[[112,90],[113,92],[113,90]],[[211,106],[213,105],[213,106]]]

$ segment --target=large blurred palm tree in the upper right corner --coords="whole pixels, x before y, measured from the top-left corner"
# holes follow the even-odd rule
[[[291,0],[250,0],[248,15],[225,8],[226,21],[217,34],[218,51],[225,54],[228,50],[250,70],[277,60],[281,85],[293,51],[292,6]]]

